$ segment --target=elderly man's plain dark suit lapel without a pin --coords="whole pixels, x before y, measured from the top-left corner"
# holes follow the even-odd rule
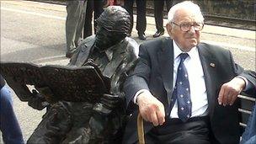
[[[169,105],[173,92],[173,41],[171,39],[163,39],[162,47],[158,51],[157,57]]]

